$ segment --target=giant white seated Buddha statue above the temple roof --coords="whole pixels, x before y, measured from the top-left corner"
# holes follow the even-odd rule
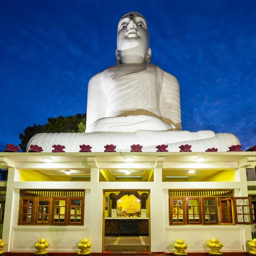
[[[180,88],[177,79],[150,63],[148,25],[137,12],[124,15],[117,28],[116,65],[93,76],[88,84],[86,131],[81,133],[37,134],[28,143],[51,152],[53,144],[65,145],[66,152],[78,152],[79,145],[104,151],[130,151],[130,145],[143,145],[143,151],[156,151],[168,144],[179,151],[182,144],[192,151],[218,148],[227,151],[239,144],[233,134],[213,131],[181,131]]]

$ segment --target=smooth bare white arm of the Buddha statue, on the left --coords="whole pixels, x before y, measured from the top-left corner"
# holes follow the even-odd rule
[[[93,76],[88,83],[86,127],[105,117],[106,93],[102,82],[102,72]]]

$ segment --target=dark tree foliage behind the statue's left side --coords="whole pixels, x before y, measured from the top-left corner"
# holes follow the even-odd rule
[[[23,133],[20,134],[20,148],[26,152],[26,146],[29,140],[38,133],[55,133],[55,132],[84,132],[86,124],[86,113],[74,116],[57,116],[49,117],[44,125],[34,124],[28,126]]]

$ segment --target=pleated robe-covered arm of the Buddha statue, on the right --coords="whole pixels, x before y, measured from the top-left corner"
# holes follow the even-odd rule
[[[160,112],[163,121],[172,123],[181,130],[180,85],[175,76],[165,71],[163,71]]]

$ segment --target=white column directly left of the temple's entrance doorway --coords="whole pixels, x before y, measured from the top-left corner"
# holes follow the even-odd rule
[[[102,195],[103,191],[99,187],[99,169],[91,168],[90,174],[90,204],[85,202],[85,207],[90,207],[89,221],[89,241],[92,243],[91,252],[100,253],[102,251]]]

